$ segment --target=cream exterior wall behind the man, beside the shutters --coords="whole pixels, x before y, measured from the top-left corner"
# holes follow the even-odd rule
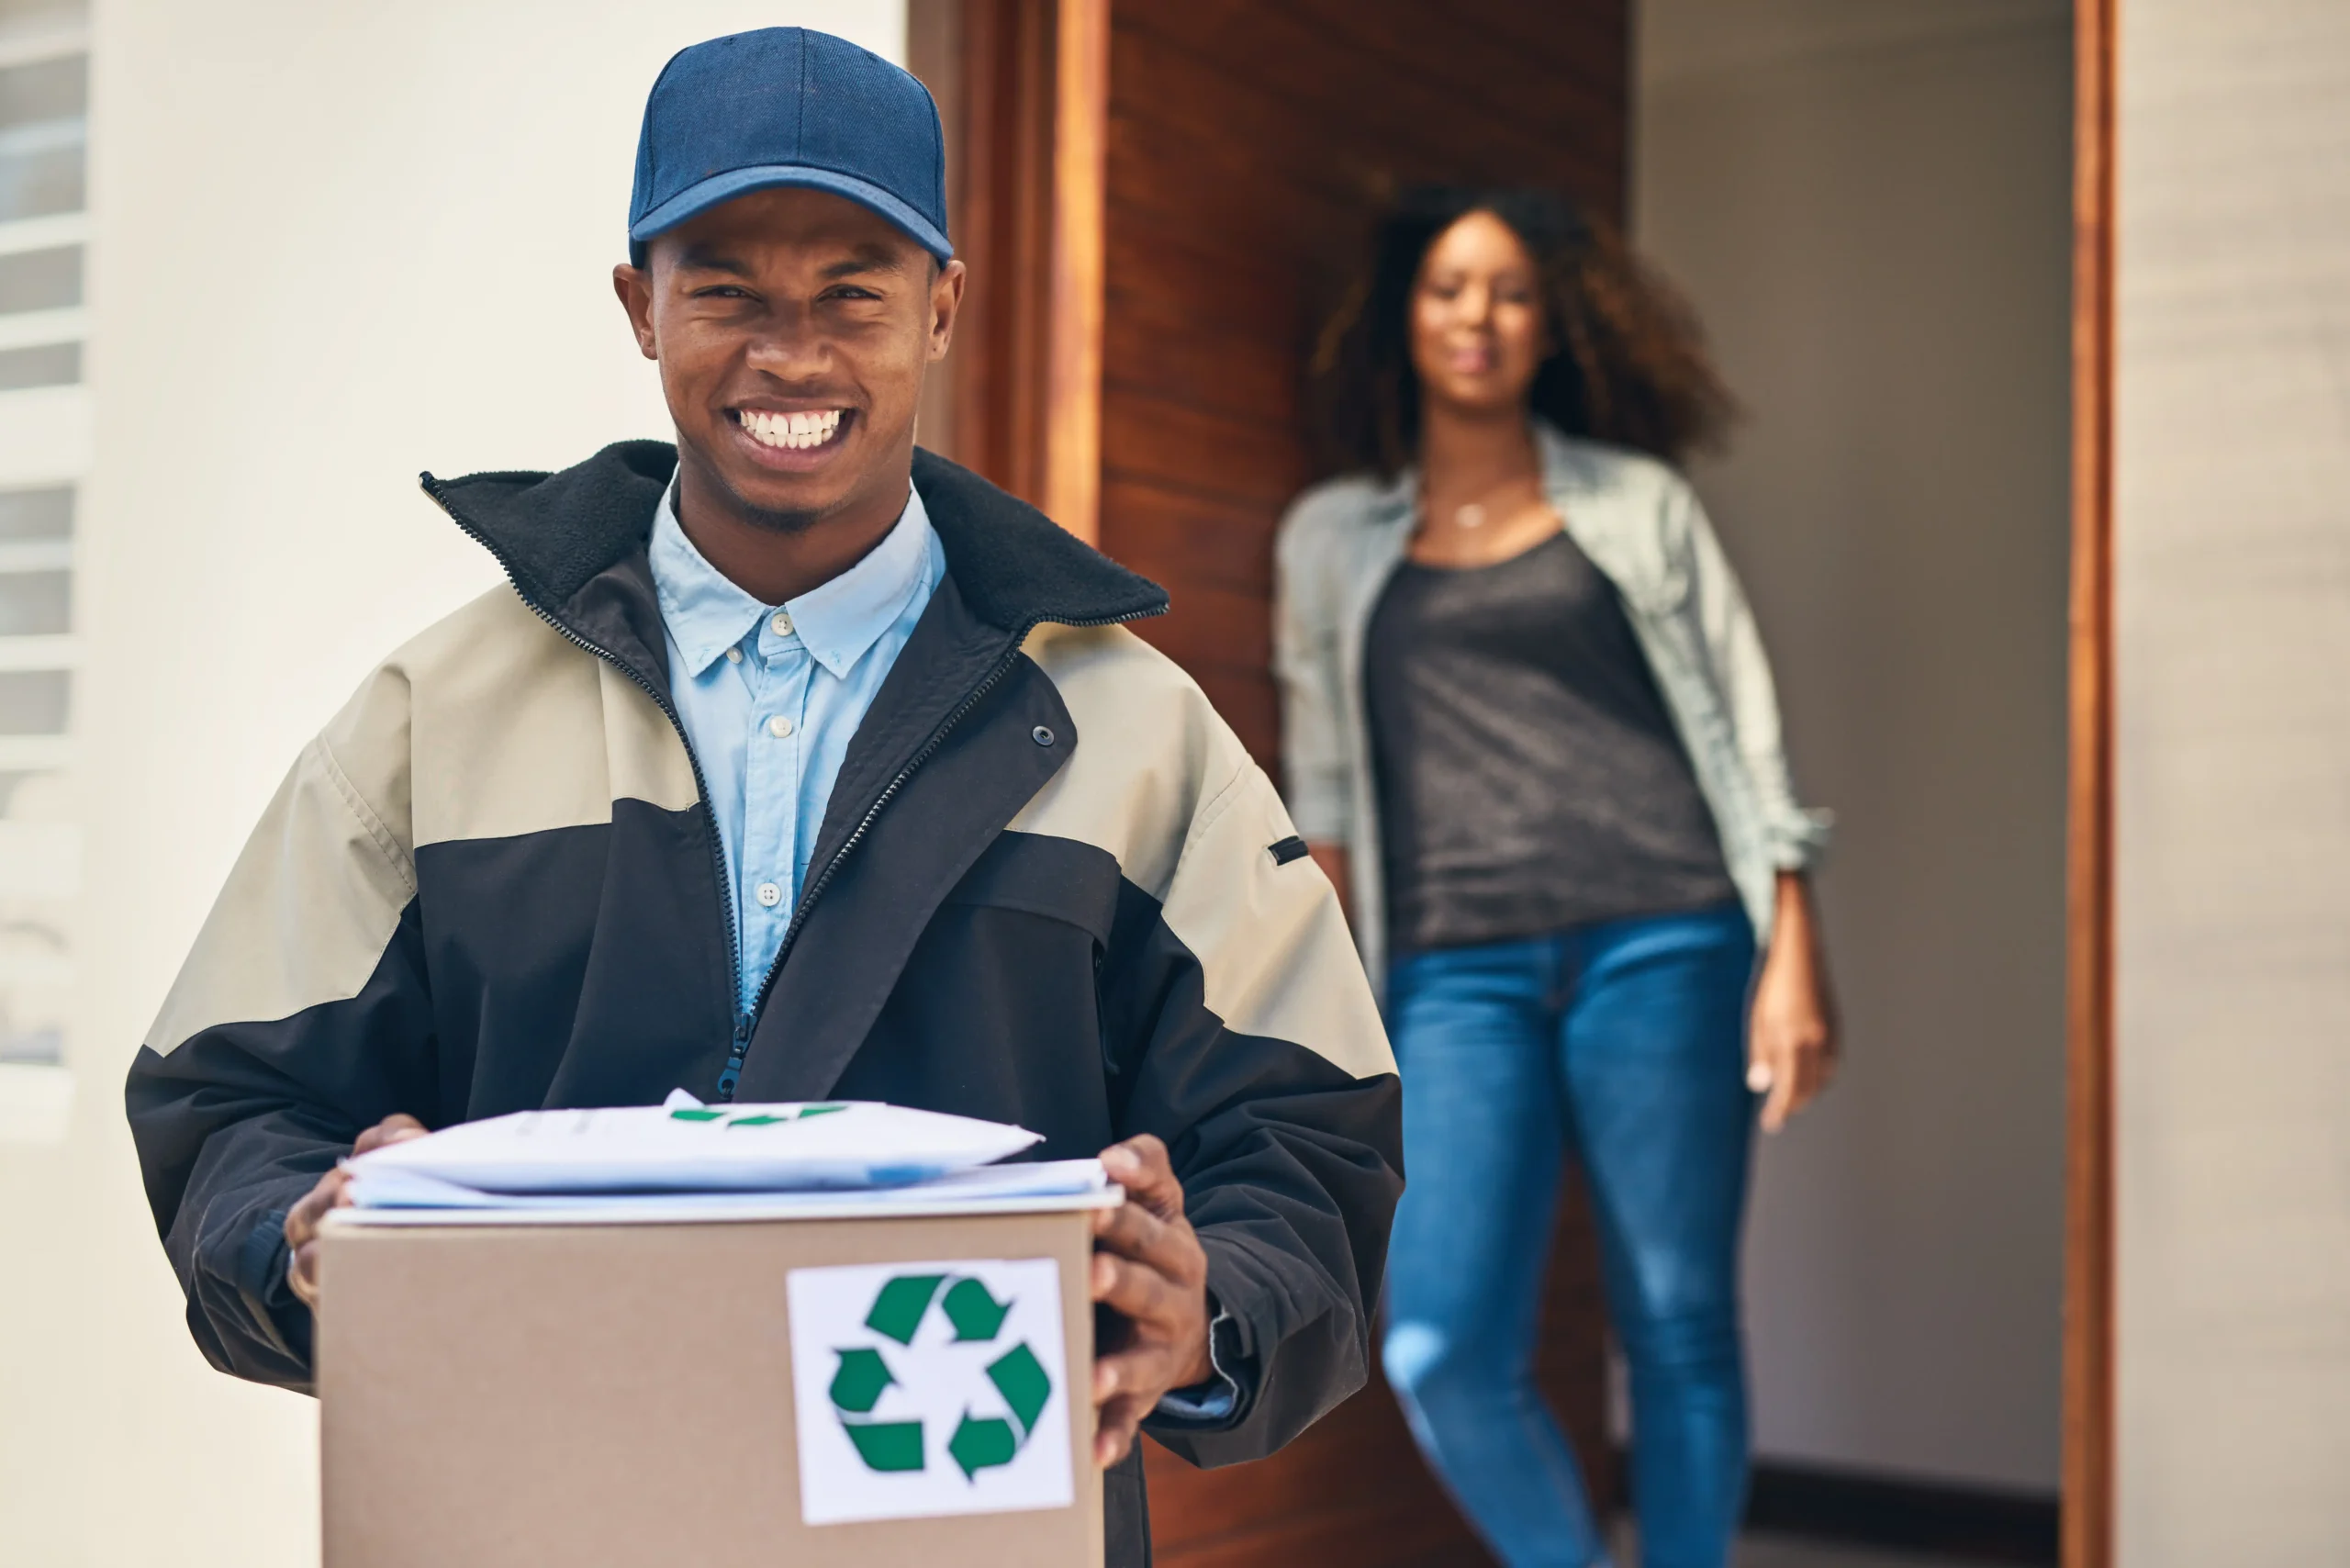
[[[122,1072],[301,743],[496,581],[416,470],[665,435],[609,268],[698,38],[902,0],[99,0],[85,952],[54,1147],[0,1150],[0,1561],[317,1559],[315,1410],[204,1366]]]

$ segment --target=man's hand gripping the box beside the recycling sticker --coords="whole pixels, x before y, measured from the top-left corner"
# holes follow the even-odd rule
[[[1119,1314],[1093,1359],[1093,1460],[1116,1465],[1170,1389],[1215,1375],[1208,1356],[1208,1253],[1182,1218],[1168,1145],[1149,1133],[1102,1150],[1126,1204],[1093,1215],[1093,1300]],[[291,1225],[291,1222],[289,1222]]]

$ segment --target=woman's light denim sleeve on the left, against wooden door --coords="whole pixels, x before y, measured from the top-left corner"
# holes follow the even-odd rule
[[[1297,832],[1314,844],[1347,844],[1349,795],[1340,663],[1342,585],[1328,557],[1328,496],[1302,496],[1281,520],[1274,545],[1274,677],[1281,686],[1281,792]]]

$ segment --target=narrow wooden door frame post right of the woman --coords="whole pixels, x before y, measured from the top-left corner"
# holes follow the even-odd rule
[[[2120,0],[2073,12],[2063,1563],[2113,1566],[2113,174]]]

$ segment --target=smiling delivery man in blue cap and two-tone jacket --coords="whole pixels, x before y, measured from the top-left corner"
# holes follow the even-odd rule
[[[825,33],[677,54],[613,289],[677,425],[423,487],[505,569],[301,752],[129,1074],[188,1326],[303,1387],[352,1147],[865,1098],[1102,1150],[1109,1561],[1137,1427],[1271,1453],[1365,1373],[1394,1063],[1166,595],[914,449],[964,263],[938,110]],[[515,383],[529,397],[526,378]]]

